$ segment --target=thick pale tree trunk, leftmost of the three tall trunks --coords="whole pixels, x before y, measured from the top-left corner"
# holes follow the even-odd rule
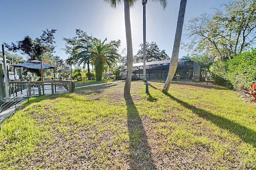
[[[129,0],[124,0],[124,21],[127,45],[127,75],[124,85],[124,95],[130,94],[132,81],[132,31],[130,23],[130,4]]]

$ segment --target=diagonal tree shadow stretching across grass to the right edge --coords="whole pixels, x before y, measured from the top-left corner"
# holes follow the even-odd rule
[[[211,112],[205,111],[204,109],[197,108],[189,103],[181,101],[170,95],[169,93],[164,93],[166,96],[170,97],[172,100],[180,103],[182,106],[186,107],[196,113],[199,117],[202,117],[208,121],[211,121],[220,128],[229,130],[234,134],[237,134],[244,142],[251,144],[256,148],[256,132],[254,130],[248,129],[238,123],[232,122],[224,117],[220,117],[212,114]]]

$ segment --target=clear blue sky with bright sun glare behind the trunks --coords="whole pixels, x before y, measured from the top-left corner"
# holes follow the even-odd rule
[[[188,0],[182,42],[189,42],[184,34],[185,26],[191,18],[204,13],[214,14],[212,8],[227,2],[228,0]],[[156,42],[159,49],[165,49],[171,57],[180,0],[167,0],[167,3],[166,9],[163,10],[160,3],[148,0],[146,41]],[[142,14],[142,3],[138,0],[130,9],[134,55],[143,42]],[[73,38],[76,29],[81,29],[88,35],[101,40],[107,38],[107,42],[121,40],[120,52],[126,48],[123,3],[117,8],[112,8],[103,0],[5,0],[0,3],[0,16],[1,43],[16,43],[27,35],[35,39],[42,35],[42,30],[55,29],[57,31],[54,33],[56,42],[54,55],[62,59],[69,57],[62,50],[65,48],[63,38]],[[188,53],[180,49],[179,58]],[[26,56],[23,57],[26,59]]]

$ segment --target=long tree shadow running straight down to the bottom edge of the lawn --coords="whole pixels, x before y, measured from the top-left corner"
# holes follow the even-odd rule
[[[130,169],[155,170],[154,160],[147,141],[146,132],[131,95],[124,95],[127,106],[127,124],[130,144]]]

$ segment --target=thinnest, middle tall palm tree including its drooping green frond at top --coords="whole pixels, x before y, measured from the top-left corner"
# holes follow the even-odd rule
[[[167,5],[166,0],[152,0],[153,2],[160,2],[165,9]],[[148,0],[142,0],[143,5],[143,81],[147,82],[146,77],[146,4]]]

